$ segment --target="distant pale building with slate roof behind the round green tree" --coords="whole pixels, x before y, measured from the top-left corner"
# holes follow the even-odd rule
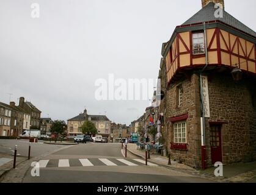
[[[108,138],[110,141],[111,135],[111,121],[105,115],[88,115],[87,110],[84,109],[84,113],[80,113],[74,118],[68,119],[68,136],[76,136],[82,134],[82,124],[85,121],[92,121],[98,130],[97,135],[102,135],[102,137]],[[92,135],[95,137],[95,135]]]

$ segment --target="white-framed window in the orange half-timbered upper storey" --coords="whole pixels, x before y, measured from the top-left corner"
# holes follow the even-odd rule
[[[203,32],[193,33],[193,54],[205,54],[205,36]]]

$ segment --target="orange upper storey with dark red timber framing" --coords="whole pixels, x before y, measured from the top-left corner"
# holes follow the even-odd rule
[[[192,33],[193,32],[189,31],[188,33],[189,33],[189,41],[187,41],[188,43],[186,43],[186,41],[181,37],[180,34],[182,34],[182,32],[178,33],[175,39],[176,43],[172,44],[173,48],[171,47],[170,51],[168,52],[169,57],[167,61],[169,60],[169,62],[166,62],[166,70],[167,70],[166,73],[167,73],[168,83],[172,82],[172,80],[175,80],[175,75],[177,74],[177,71],[179,71],[180,73],[181,69],[196,68],[196,67],[205,65],[205,63],[196,63],[196,64],[193,63],[193,59],[200,59],[202,57],[205,57],[205,54],[193,55],[192,53]],[[233,41],[234,39],[235,41]],[[242,41],[243,41],[243,44],[242,44]],[[215,46],[214,48],[213,43],[216,43],[217,47]],[[185,48],[185,51],[180,52],[181,46]],[[253,71],[251,71],[251,69],[254,69],[254,68],[249,69],[249,62],[250,62],[251,64],[250,66],[252,66],[252,63],[254,63],[255,70],[256,70],[256,59],[255,59],[256,46],[255,44],[252,44],[252,42],[247,41],[243,38],[237,37],[233,34],[230,34],[230,32],[227,32],[225,30],[215,28],[213,35],[211,35],[210,42],[208,41],[207,48],[208,48],[208,53],[217,52],[216,56],[218,57],[218,60],[216,61],[218,63],[209,63],[209,66],[227,66],[232,69],[235,66],[238,66],[239,68],[241,68],[241,65],[244,64],[246,66],[243,66],[243,68],[241,69],[255,74]],[[252,52],[255,52],[254,57],[251,57]],[[188,65],[181,65],[180,57],[181,55],[184,55],[184,54],[189,54],[190,59],[188,60],[189,61]],[[227,63],[227,60],[226,62],[224,62],[224,59],[222,59],[222,55],[228,56],[229,63]],[[171,69],[172,71],[170,71]]]

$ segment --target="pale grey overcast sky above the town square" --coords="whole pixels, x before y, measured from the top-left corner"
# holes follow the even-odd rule
[[[40,18],[31,18],[34,2]],[[225,0],[225,10],[253,30],[255,7],[255,0]],[[200,0],[0,0],[0,101],[24,96],[43,117],[64,120],[86,106],[130,124],[150,101],[97,101],[95,80],[155,79],[161,44],[200,9]]]

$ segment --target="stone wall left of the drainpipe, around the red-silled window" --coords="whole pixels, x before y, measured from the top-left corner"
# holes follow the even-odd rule
[[[183,87],[183,105],[178,107],[177,90],[178,86]],[[183,81],[174,83],[167,89],[167,113],[168,117],[181,116],[188,113],[186,120],[186,138],[188,143],[188,151],[179,151],[170,149],[170,143],[174,142],[173,123],[167,125],[169,137],[167,138],[168,149],[172,158],[181,161],[186,165],[194,168],[200,168],[200,93],[199,93],[199,77],[196,74],[191,76],[191,80],[184,77]]]

